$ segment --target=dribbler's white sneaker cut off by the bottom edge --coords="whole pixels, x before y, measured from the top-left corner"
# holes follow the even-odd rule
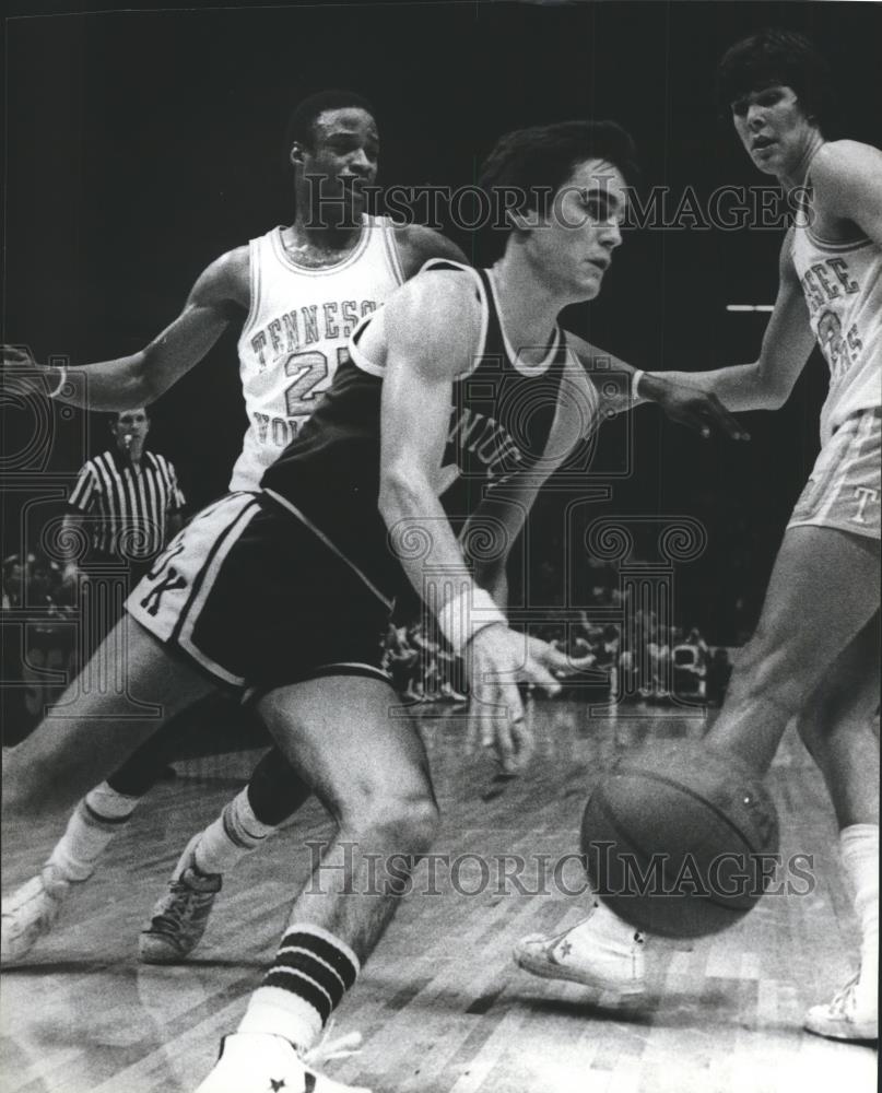
[[[371,1093],[325,1078],[281,1036],[239,1032],[225,1036],[214,1069],[196,1093]]]

